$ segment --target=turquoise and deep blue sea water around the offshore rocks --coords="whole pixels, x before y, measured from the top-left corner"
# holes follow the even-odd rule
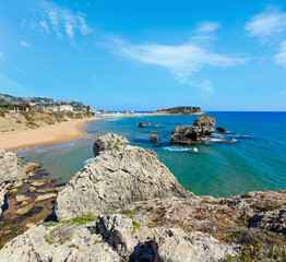
[[[210,145],[169,144],[172,129],[178,124],[192,124],[195,116],[108,119],[90,122],[84,129],[91,135],[122,134],[132,145],[154,150],[178,181],[195,194],[229,196],[253,190],[286,189],[286,112],[208,115],[215,117],[217,127],[229,131],[224,136],[215,134]],[[139,122],[160,127],[139,128]],[[151,143],[152,133],[157,133],[162,141]],[[31,162],[41,163],[47,176],[64,183],[93,157],[94,140],[91,136],[20,153]],[[222,143],[224,141],[228,143]]]

